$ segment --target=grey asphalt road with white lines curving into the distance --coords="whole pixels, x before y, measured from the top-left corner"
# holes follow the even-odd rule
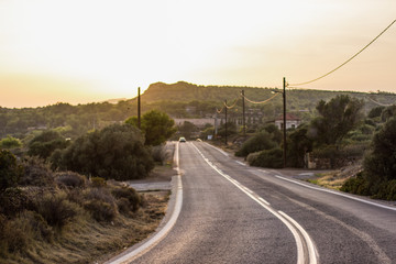
[[[175,226],[132,263],[396,263],[396,208],[179,144]],[[298,173],[298,172],[297,172]]]

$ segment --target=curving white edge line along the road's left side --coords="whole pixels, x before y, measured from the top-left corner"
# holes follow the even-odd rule
[[[117,260],[109,261],[107,264],[124,264],[124,263],[131,263],[133,260],[138,258],[139,256],[146,253],[148,250],[151,250],[153,246],[160,243],[166,234],[172,230],[172,228],[175,226],[176,220],[182,211],[182,205],[183,205],[183,185],[182,185],[182,177],[180,177],[180,168],[179,168],[179,143],[176,143],[176,150],[175,150],[175,156],[174,162],[176,164],[176,170],[177,170],[177,190],[176,190],[176,201],[175,201],[175,208],[172,213],[172,217],[169,221],[165,224],[163,229],[161,229],[160,232],[157,232],[153,238],[147,240],[144,244],[135,249],[134,251],[127,253]]]

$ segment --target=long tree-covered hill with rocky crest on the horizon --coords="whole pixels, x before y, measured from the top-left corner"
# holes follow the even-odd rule
[[[274,96],[274,91],[282,91],[277,88],[237,87],[237,86],[198,86],[185,81],[176,84],[156,82],[152,84],[142,95],[142,101],[148,105],[158,105],[160,101],[191,102],[206,101],[222,107],[227,100],[231,105],[240,96],[241,90],[248,99],[263,101]],[[314,111],[318,101],[328,101],[338,95],[349,95],[362,99],[365,102],[365,112],[382,105],[393,105],[396,101],[396,94],[391,92],[358,92],[358,91],[329,91],[308,89],[287,89],[286,105],[288,111]],[[283,105],[282,96],[268,102],[275,108]],[[252,105],[252,103],[250,103]],[[263,106],[263,105],[258,105]]]

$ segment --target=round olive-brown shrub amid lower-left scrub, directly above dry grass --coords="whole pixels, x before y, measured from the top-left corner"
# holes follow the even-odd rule
[[[77,215],[76,205],[65,193],[47,194],[36,200],[36,211],[51,226],[62,229]]]

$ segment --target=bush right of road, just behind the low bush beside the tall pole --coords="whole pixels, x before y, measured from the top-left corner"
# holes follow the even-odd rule
[[[246,140],[242,147],[235,152],[235,156],[248,156],[250,153],[271,150],[277,144],[271,140],[271,134],[263,131]]]

